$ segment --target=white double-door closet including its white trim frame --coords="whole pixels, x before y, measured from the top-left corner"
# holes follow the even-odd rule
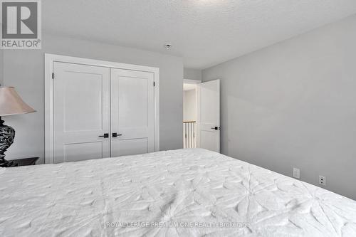
[[[159,69],[45,54],[46,163],[159,150]]]

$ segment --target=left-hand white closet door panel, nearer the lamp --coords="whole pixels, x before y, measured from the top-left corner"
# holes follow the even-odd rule
[[[110,69],[56,62],[53,72],[54,162],[110,157]]]

